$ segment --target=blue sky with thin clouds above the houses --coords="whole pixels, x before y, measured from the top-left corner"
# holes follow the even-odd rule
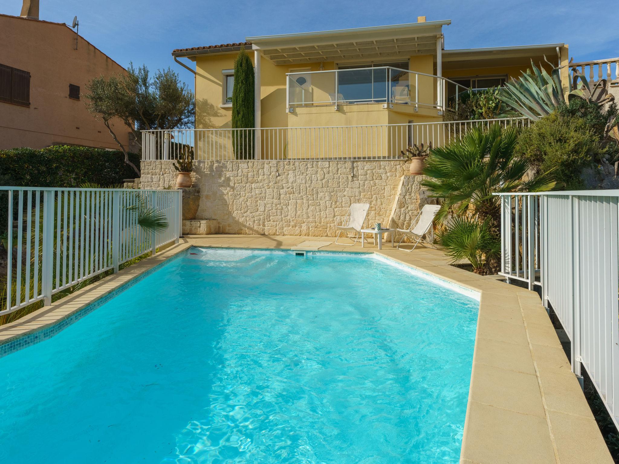
[[[521,0],[40,0],[40,18],[80,22],[80,35],[121,65],[178,66],[175,48],[242,41],[253,35],[451,19],[446,48],[568,43],[575,61],[619,56],[619,14],[612,1]],[[20,0],[0,0],[19,15]]]

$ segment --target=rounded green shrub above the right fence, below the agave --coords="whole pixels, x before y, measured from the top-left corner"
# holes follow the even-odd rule
[[[565,189],[582,188],[582,170],[606,156],[587,120],[566,111],[555,111],[523,129],[515,153],[537,172],[552,170],[558,186]]]

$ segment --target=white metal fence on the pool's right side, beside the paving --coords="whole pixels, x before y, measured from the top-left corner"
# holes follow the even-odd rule
[[[501,274],[540,286],[619,427],[619,190],[498,195]]]

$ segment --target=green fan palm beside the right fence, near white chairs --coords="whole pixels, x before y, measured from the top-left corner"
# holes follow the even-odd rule
[[[513,127],[476,127],[462,140],[434,148],[426,160],[422,185],[431,196],[443,199],[437,218],[456,216],[439,245],[454,260],[467,256],[476,272],[493,271],[498,262],[501,208],[493,193],[548,191],[555,186],[550,173],[525,179],[530,165],[514,155],[516,139]]]

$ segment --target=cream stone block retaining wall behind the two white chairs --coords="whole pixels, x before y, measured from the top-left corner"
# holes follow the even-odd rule
[[[366,226],[410,226],[434,200],[408,170],[402,161],[195,161],[197,219],[217,220],[217,233],[332,237],[351,203],[369,203]],[[172,161],[142,161],[141,180],[175,186]]]

